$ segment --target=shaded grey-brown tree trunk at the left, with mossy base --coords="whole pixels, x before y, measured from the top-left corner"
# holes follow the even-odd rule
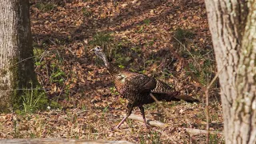
[[[36,82],[33,59],[29,0],[0,1],[0,111]]]

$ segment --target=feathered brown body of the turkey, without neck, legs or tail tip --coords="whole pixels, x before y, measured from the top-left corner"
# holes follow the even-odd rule
[[[118,93],[133,106],[142,106],[154,102],[150,93],[159,101],[180,100],[175,98],[179,93],[173,88],[144,74],[122,71],[115,76],[114,84]]]

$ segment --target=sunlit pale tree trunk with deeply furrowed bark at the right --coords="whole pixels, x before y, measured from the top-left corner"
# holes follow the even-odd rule
[[[256,1],[206,0],[226,143],[256,143]]]

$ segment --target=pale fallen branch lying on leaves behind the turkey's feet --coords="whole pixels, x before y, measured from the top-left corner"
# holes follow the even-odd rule
[[[139,116],[136,114],[130,114],[130,116],[128,118],[144,122],[142,116]],[[166,123],[150,120],[148,118],[146,118],[146,123],[149,124],[150,126],[157,126],[157,127],[163,127],[163,128],[169,126]],[[190,134],[207,134],[207,130],[182,128],[182,127],[178,128],[178,129],[179,130],[184,129],[184,130],[186,130],[187,133],[190,133]],[[222,132],[220,132],[220,131],[211,131],[211,130],[209,130],[209,133],[210,134],[222,134]]]

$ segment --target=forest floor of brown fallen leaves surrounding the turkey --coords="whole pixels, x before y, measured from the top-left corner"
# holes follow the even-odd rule
[[[198,86],[207,86],[216,74],[203,0],[31,0],[30,4],[35,70],[51,102],[45,104],[42,96],[32,93],[24,97],[22,110],[0,115],[0,138],[206,142],[206,134],[185,129],[206,130],[206,96]],[[90,52],[96,45],[104,47],[115,66],[172,84],[200,103],[161,102],[165,110],[149,104],[146,118],[169,126],[147,130],[143,122],[128,119],[115,130],[127,102]],[[218,93],[214,82],[209,92],[210,130],[214,131],[223,128]],[[46,110],[30,113],[39,102]],[[133,113],[140,115],[138,108]],[[210,143],[222,142],[221,134],[210,134]]]

